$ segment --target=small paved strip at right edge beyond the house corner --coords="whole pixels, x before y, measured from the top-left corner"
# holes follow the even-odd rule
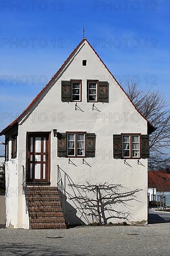
[[[148,223],[163,223],[170,222],[170,212],[156,211],[149,209]]]

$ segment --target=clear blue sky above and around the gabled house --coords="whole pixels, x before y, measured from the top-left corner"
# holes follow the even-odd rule
[[[82,40],[83,24],[85,37],[123,87],[129,77],[169,100],[170,1],[0,4],[0,129],[26,108]]]

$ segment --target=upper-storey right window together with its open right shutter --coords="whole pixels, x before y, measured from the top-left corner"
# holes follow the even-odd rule
[[[109,102],[107,81],[87,80],[87,102]]]

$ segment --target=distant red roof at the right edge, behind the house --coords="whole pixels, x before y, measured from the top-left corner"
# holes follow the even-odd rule
[[[157,191],[170,191],[170,174],[165,171],[148,172],[148,188],[157,188]]]

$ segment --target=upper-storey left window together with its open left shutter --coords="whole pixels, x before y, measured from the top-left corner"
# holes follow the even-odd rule
[[[61,101],[82,101],[82,81],[61,81]]]

